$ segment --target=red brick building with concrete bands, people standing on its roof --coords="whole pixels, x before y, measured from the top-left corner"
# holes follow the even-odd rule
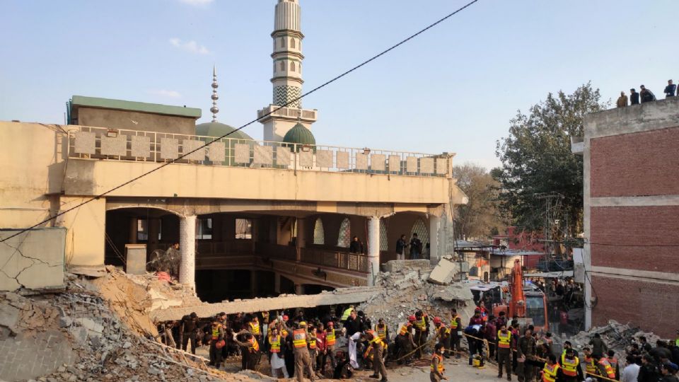
[[[579,146],[579,147],[577,147]],[[585,117],[586,326],[679,329],[679,98]]]

